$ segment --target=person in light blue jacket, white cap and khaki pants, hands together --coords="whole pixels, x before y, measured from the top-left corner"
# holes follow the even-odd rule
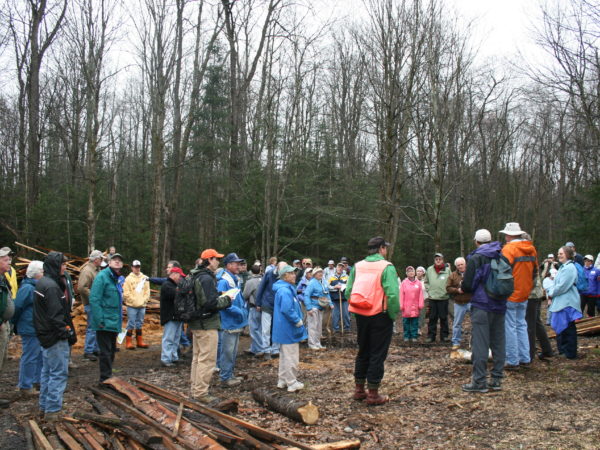
[[[308,325],[308,348],[325,350],[321,345],[323,334],[323,310],[333,309],[329,297],[329,286],[323,281],[323,269],[315,267],[313,278],[304,290],[304,306],[306,306],[306,322]]]

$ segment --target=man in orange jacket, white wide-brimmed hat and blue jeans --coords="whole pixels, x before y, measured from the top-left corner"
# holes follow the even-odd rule
[[[516,222],[509,222],[501,230],[506,239],[502,255],[513,268],[515,289],[506,304],[504,322],[506,335],[506,368],[517,369],[531,363],[529,338],[527,335],[527,299],[533,289],[537,275],[537,252],[531,238]]]

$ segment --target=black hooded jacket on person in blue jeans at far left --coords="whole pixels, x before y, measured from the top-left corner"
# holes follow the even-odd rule
[[[71,305],[60,275],[63,254],[50,252],[44,259],[44,276],[37,282],[33,303],[33,325],[40,344],[50,348],[60,340],[77,342],[71,320]]]

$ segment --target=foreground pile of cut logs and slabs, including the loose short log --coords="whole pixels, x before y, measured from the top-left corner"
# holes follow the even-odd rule
[[[93,397],[87,401],[97,413],[78,411],[44,429],[30,420],[25,427],[28,447],[44,450],[360,447],[359,440],[307,445],[223,412],[237,411],[235,400],[211,408],[140,379],[131,381],[135,384],[111,378],[99,388],[90,388]],[[315,423],[318,419],[318,409],[310,402],[289,397],[284,400],[285,395],[266,391],[259,394],[267,405],[272,404],[273,396],[279,398],[275,403],[282,411],[293,411],[291,417],[295,420]]]

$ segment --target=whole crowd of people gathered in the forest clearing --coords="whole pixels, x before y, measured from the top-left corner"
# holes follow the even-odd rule
[[[507,223],[500,233],[505,236],[504,245],[492,241],[488,230],[477,230],[475,249],[466,258],[455,259],[454,271],[443,254],[436,253],[427,269],[407,267],[404,280],[386,260],[389,243],[381,237],[369,240],[368,255],[354,267],[345,257],[337,264],[330,260],[325,268],[313,267],[309,258],[292,264],[271,258],[264,270],[259,261],[248,270],[236,253],[206,249],[187,275],[179,262],[170,261],[165,278],[144,275],[139,260],[132,262],[131,273],[124,277],[121,254],[114,248],[106,256],[94,250],[80,270],[77,285],[88,322],[84,358],[99,361],[103,382],[112,376],[121,339],[128,350],[148,347],[142,330],[152,282],[161,285],[161,362],[176,366],[182,352],[193,348],[191,395],[200,402],[215,400],[209,392],[215,371],[223,387],[241,383],[235,368],[245,329],[251,341],[246,353],[279,358],[277,387],[289,392],[302,389],[299,343],[306,341],[310,350],[323,350],[325,324],[341,332],[355,328],[358,352],[353,398],[369,405],[383,404],[388,398],[379,394],[379,386],[397,317],[402,317],[404,341],[415,342],[426,309],[426,342],[435,341],[438,323],[440,340],[449,340],[450,316],[454,349],[461,345],[463,321],[470,313],[473,373],[462,389],[500,390],[504,370],[531,363],[536,340],[542,349],[540,358],[554,356],[540,317],[546,299],[558,352],[571,359],[577,357],[575,322],[585,308],[590,316],[600,309],[600,261],[594,264],[591,255],[582,257],[567,243],[558,250],[558,261],[551,254],[540,265],[531,237],[518,223]],[[23,348],[19,389],[29,395],[39,386],[40,410],[47,420],[57,420],[70,347],[77,341],[71,319],[75,292],[66,271],[67,259],[50,252],[43,262],[32,261],[18,290],[11,259],[8,247],[0,249],[0,349],[4,349],[0,351],[5,352],[11,319]],[[193,307],[183,314],[180,298],[186,292]],[[127,313],[124,329],[123,305]],[[489,350],[493,365],[488,380]],[[4,354],[0,357],[3,361]],[[0,406],[7,402],[0,400]]]

